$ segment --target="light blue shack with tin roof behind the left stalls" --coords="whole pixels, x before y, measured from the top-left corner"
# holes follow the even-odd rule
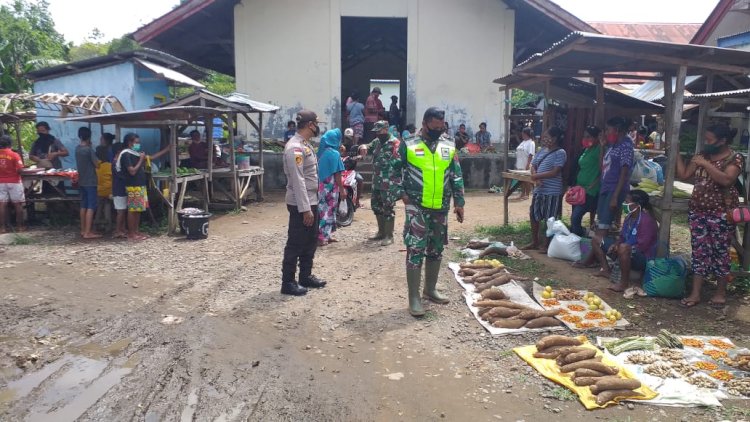
[[[34,81],[35,93],[72,93],[78,96],[113,96],[125,110],[149,108],[170,98],[169,88],[192,86],[202,88],[195,79],[205,76],[202,70],[176,57],[156,50],[139,50],[108,56],[94,57],[75,63],[40,69],[29,74]],[[37,121],[49,123],[51,133],[58,137],[71,151],[78,144],[77,130],[80,123],[57,120],[69,117],[65,109],[61,112],[36,107]],[[92,126],[94,144],[102,126]],[[109,129],[115,132],[114,129]],[[158,130],[139,131],[144,151],[159,150]],[[118,140],[120,137],[118,136]],[[62,159],[64,168],[75,168],[75,157],[70,154]]]

